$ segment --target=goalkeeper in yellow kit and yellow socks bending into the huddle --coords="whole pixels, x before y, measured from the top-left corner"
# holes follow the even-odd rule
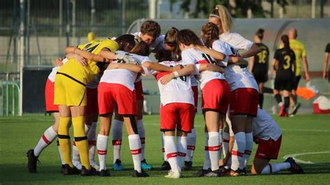
[[[79,45],[78,48],[68,47],[67,53],[74,50],[84,50],[92,54],[99,54],[100,51],[116,51],[117,42],[113,40],[93,40],[86,45]],[[72,51],[73,50],[73,51]],[[84,131],[84,115],[86,109],[86,83],[95,79],[100,72],[100,68],[93,58],[88,58],[84,65],[78,63],[75,59],[70,59],[58,70],[55,80],[54,104],[58,105],[60,112],[60,125],[58,128],[58,140],[65,161],[63,174],[78,174],[79,170],[75,168],[70,159],[71,145],[69,128],[72,121],[74,129],[74,141],[77,145],[81,161],[81,175],[93,175],[95,169],[91,168],[88,160],[88,142]],[[113,58],[114,59],[114,58]],[[105,60],[104,60],[105,61]]]

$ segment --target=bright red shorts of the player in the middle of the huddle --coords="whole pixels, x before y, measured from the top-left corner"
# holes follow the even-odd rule
[[[160,130],[191,132],[195,107],[186,103],[171,103],[160,106]]]

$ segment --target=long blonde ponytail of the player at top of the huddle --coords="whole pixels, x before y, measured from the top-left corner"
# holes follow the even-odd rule
[[[233,28],[233,17],[231,17],[229,10],[225,6],[215,6],[210,13],[210,17],[218,17],[220,19],[223,33],[228,33]]]

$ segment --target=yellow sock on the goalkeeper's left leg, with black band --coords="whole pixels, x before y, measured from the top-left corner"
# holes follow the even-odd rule
[[[61,117],[60,125],[58,127],[58,143],[60,143],[63,161],[65,164],[69,164],[69,166],[73,167],[71,161],[71,142],[69,136],[70,129],[70,117]]]

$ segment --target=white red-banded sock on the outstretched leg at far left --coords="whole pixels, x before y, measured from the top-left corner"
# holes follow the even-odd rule
[[[42,137],[40,138],[38,144],[34,148],[34,156],[39,156],[42,150],[44,150],[45,147],[50,145],[50,143],[53,142],[53,140],[57,137],[56,131],[54,131],[53,127],[49,127]]]

